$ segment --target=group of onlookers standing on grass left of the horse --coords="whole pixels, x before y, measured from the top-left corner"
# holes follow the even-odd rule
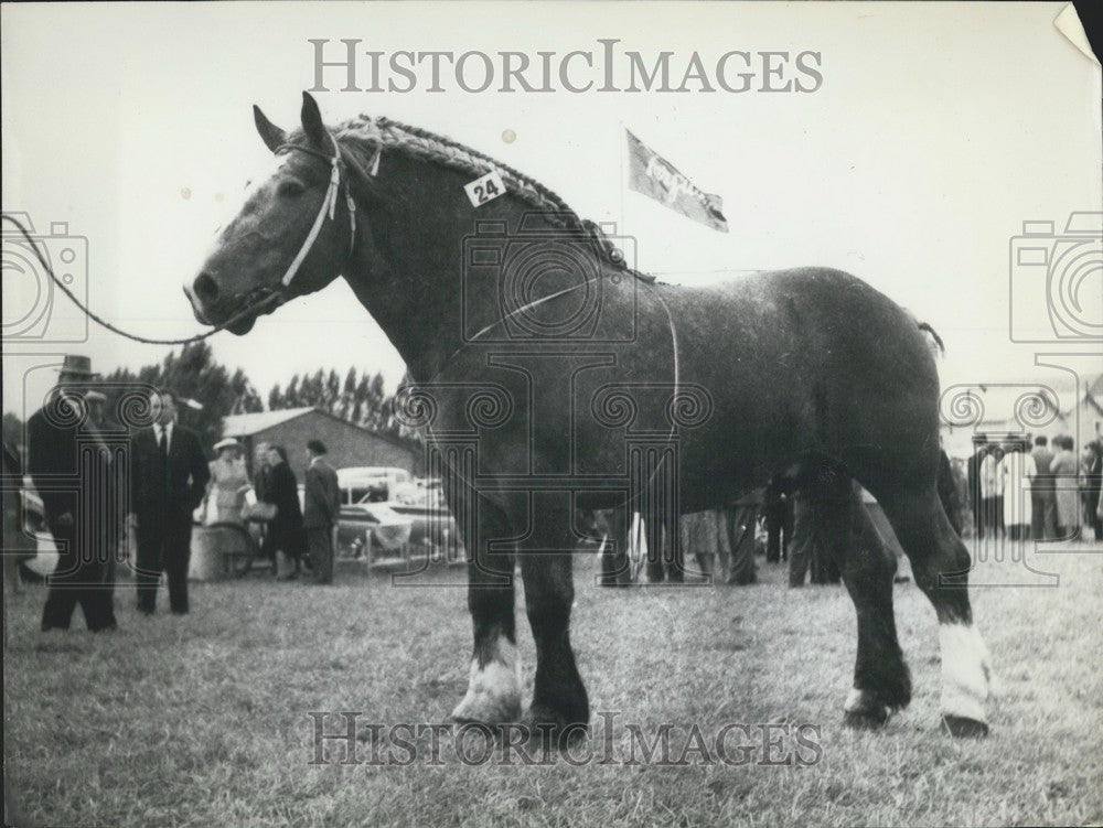
[[[261,552],[272,560],[279,580],[293,580],[309,569],[315,581],[332,581],[341,495],[321,441],[304,447],[309,465],[300,506],[283,447],[257,447],[250,482],[243,447],[235,440],[216,443],[217,456],[207,461],[200,437],[178,423],[171,389],[150,393],[150,424],[129,429],[104,417],[106,397],[95,388],[97,378],[87,357],[66,356],[55,387],[28,420],[25,460],[4,443],[6,583],[19,589],[19,570],[8,564],[9,558],[18,562],[20,550],[24,558],[34,555],[24,549],[33,542],[23,531],[24,473],[42,502],[57,551],[47,579],[43,632],[67,630],[77,606],[88,630],[118,627],[116,570],[131,538],[139,613],[156,613],[163,579],[171,613],[186,614],[196,516],[207,526],[263,527]]]

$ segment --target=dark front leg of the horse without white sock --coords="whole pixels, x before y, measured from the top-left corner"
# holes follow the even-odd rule
[[[536,642],[536,686],[526,721],[549,728],[556,739],[579,735],[590,720],[590,702],[570,646],[571,514],[569,508],[534,509],[532,548],[520,552],[525,605]]]

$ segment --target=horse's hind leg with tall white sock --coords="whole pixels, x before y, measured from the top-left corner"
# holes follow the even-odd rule
[[[915,583],[939,617],[943,722],[953,735],[984,735],[985,701],[994,677],[984,639],[973,626],[968,551],[950,525],[933,483],[890,491],[878,501],[911,560]]]

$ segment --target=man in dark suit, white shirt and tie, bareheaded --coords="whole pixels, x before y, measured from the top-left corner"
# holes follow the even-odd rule
[[[131,449],[131,497],[137,520],[138,610],[152,615],[161,572],[169,580],[169,607],[188,612],[188,562],[192,512],[211,478],[199,435],[176,424],[175,397],[150,395],[153,424],[137,432]]]

